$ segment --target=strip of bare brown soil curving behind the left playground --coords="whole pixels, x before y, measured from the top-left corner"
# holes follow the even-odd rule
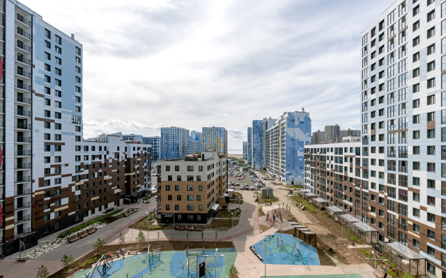
[[[106,245],[105,248],[100,250],[100,254],[107,254],[109,252],[112,252],[113,254],[116,254],[116,250],[118,248],[125,247],[125,250],[135,250],[137,249],[138,252],[147,252],[147,242],[141,243],[141,247],[139,247],[139,243],[125,243],[123,245]],[[174,244],[172,245],[171,241],[167,240],[160,240],[160,242],[152,242],[151,241],[151,250],[158,249],[161,247],[161,251],[174,251],[174,250],[186,250],[186,247],[189,248],[206,248],[206,249],[214,249],[214,248],[230,248],[232,247],[231,241],[217,241],[211,242],[211,241],[204,241],[201,243],[201,241],[190,241],[187,243],[186,241],[174,241]],[[94,250],[90,252],[89,254],[86,254],[82,258],[78,259],[72,265],[70,265],[70,270],[68,273],[63,273],[64,270],[59,270],[58,272],[53,273],[48,278],[66,278],[70,277],[75,274],[75,272],[87,268],[91,268],[91,265],[98,261],[100,259],[100,254],[97,253],[97,250]],[[85,264],[86,261],[89,261],[88,265]]]

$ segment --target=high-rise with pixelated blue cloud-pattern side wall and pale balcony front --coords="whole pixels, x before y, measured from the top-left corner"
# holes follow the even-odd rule
[[[304,150],[311,142],[311,134],[312,120],[303,109],[284,112],[266,130],[266,170],[272,177],[287,184],[304,183]]]

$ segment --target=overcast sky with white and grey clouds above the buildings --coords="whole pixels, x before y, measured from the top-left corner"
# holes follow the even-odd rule
[[[360,33],[393,1],[22,0],[84,45],[84,138],[310,113],[360,128]]]

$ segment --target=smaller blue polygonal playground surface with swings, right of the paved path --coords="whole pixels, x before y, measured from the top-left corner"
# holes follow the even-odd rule
[[[256,252],[263,260],[266,259],[266,264],[321,265],[316,247],[289,234],[274,234],[266,237],[266,247],[263,240],[252,246],[256,248]],[[265,256],[265,248],[267,256]]]

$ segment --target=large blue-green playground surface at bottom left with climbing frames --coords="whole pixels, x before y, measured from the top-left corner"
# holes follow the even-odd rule
[[[208,256],[199,256],[199,263],[206,259],[206,276],[207,278],[220,278],[229,276],[229,268],[236,262],[237,252],[235,248],[221,248],[215,255],[215,250],[204,250],[204,254]],[[224,255],[224,256],[218,256]],[[185,251],[166,251],[160,252],[160,256],[151,259],[151,263],[148,262],[147,253],[139,254],[136,256],[130,256],[124,260],[114,261],[110,263],[111,268],[108,268],[103,277],[110,278],[141,278],[141,277],[188,277],[187,276],[187,260],[190,261],[190,275],[189,277],[198,277],[197,267],[197,253],[189,254],[186,256]],[[217,260],[217,261],[215,261]],[[184,267],[183,264],[184,263]],[[86,274],[91,269],[82,270],[76,273],[72,278],[85,278]],[[99,270],[102,273],[102,265]],[[217,275],[215,276],[215,270]],[[95,271],[92,278],[101,278],[98,271]]]

